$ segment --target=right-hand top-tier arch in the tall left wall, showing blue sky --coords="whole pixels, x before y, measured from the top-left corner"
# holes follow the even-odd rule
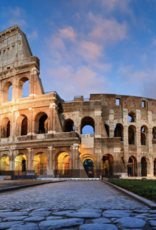
[[[27,77],[23,77],[19,81],[19,98],[21,97],[29,97],[29,79]]]

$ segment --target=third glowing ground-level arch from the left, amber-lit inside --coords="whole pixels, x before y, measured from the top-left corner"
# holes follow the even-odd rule
[[[47,175],[47,155],[46,153],[37,153],[33,160],[33,169],[37,175]]]

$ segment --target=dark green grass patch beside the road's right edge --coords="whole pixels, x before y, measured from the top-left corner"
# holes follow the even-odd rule
[[[128,180],[109,179],[109,182],[142,197],[156,201],[156,181],[152,180]]]

